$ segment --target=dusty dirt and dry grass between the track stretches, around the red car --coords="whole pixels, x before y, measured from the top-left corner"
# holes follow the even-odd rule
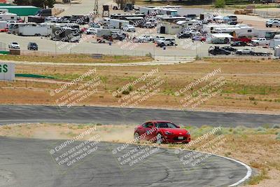
[[[99,134],[102,141],[125,143],[133,139],[134,126],[132,125],[78,125],[59,123],[1,125],[0,136],[36,139],[72,139],[92,128],[94,128],[94,131],[91,131],[90,134],[85,136],[85,140],[97,134]],[[202,141],[200,141],[200,137],[214,130],[214,127],[205,125],[199,128],[193,126],[183,128],[186,128],[190,132],[192,141],[195,142],[194,144],[162,144],[160,146],[165,148],[186,148],[186,150],[205,151],[235,158],[250,165],[254,170],[255,174],[244,184],[245,186],[274,187],[279,185],[279,125],[274,125],[272,128],[247,128],[243,126],[233,128],[216,127],[216,131]],[[217,139],[221,142],[218,144],[218,147],[209,149],[211,147],[209,142],[215,142]]]

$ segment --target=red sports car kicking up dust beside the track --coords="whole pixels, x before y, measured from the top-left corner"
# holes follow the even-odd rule
[[[190,132],[165,120],[153,120],[138,125],[134,129],[134,139],[145,139],[158,143],[190,142]]]

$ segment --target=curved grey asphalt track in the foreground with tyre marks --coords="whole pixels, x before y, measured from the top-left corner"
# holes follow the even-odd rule
[[[184,166],[180,157],[190,151],[175,154],[163,148],[144,162],[123,166],[117,158],[135,146],[113,155],[120,144],[106,142],[96,144],[96,151],[73,165],[59,165],[50,149],[63,141],[0,137],[0,186],[230,186],[248,172],[244,165],[216,155]],[[69,144],[66,151],[80,142]]]

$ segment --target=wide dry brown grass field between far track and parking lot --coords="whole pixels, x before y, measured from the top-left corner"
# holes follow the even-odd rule
[[[94,74],[64,88],[66,83],[91,69],[95,69]],[[153,70],[157,72],[147,76]],[[188,88],[213,71],[217,71],[215,76]],[[71,97],[71,103],[76,106],[280,113],[279,60],[205,58],[186,64],[135,67],[17,64],[16,74],[36,74],[53,79],[16,77],[13,82],[0,81],[1,104],[66,106],[63,99],[75,95]],[[96,89],[83,87],[96,76],[101,81]],[[139,81],[143,76],[147,78]],[[216,90],[209,90],[209,84],[221,77],[224,79],[216,82]],[[158,82],[153,83],[157,78]],[[144,88],[146,85],[147,89]],[[54,93],[59,88],[63,88],[62,91]],[[90,90],[94,92],[82,97],[83,92]]]

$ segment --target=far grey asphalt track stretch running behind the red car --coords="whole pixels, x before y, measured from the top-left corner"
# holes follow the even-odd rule
[[[127,109],[100,106],[0,105],[0,125],[10,123],[102,123],[136,125],[146,120],[171,120],[179,125],[258,127],[279,124],[280,115],[221,113],[165,109]]]

